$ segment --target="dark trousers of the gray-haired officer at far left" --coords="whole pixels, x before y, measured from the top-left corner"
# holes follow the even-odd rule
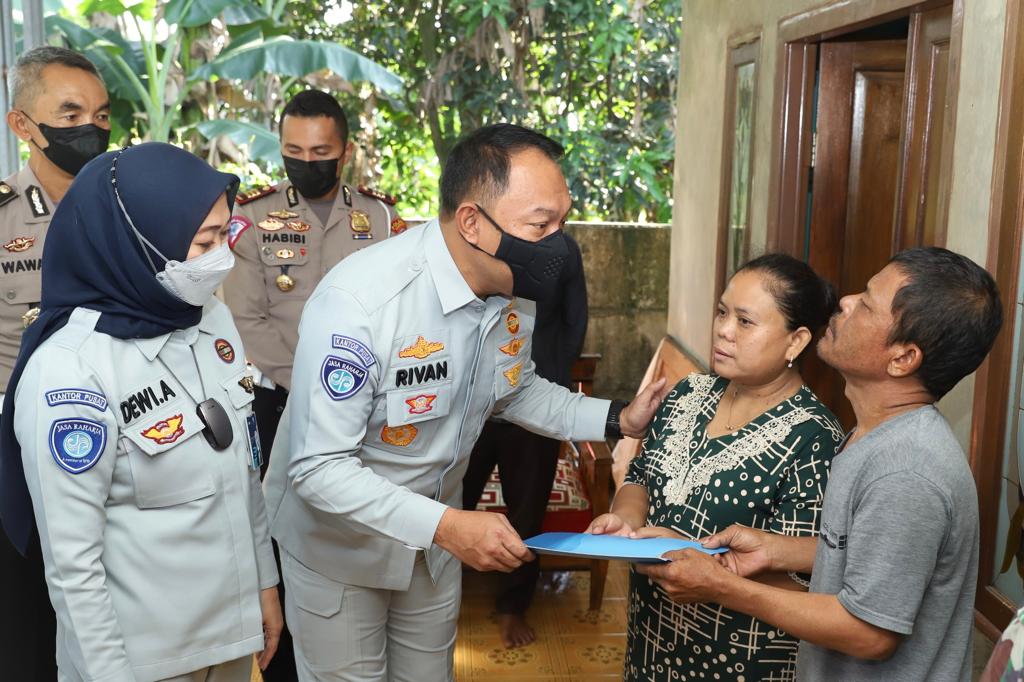
[[[23,557],[0,531],[0,680],[56,680],[56,640],[39,537]]]

